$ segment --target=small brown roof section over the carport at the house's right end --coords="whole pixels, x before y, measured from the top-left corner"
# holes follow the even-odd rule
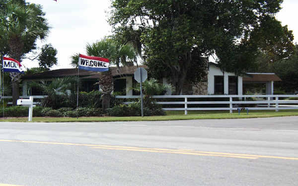
[[[263,81],[281,81],[281,78],[275,73],[246,73],[246,76],[243,76],[243,81],[254,81],[254,82],[263,82]]]

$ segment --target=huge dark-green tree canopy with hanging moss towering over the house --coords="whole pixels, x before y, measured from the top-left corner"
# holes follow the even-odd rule
[[[210,55],[236,74],[253,66],[259,51],[289,55],[293,34],[274,17],[282,1],[113,0],[109,23],[116,35],[141,43],[145,63],[169,75],[179,94],[194,66],[190,80],[204,76],[202,59]]]

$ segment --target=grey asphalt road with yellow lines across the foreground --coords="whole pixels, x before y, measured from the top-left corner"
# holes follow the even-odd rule
[[[0,186],[297,186],[298,117],[0,123]]]

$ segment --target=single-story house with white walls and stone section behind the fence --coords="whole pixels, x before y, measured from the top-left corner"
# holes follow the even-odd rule
[[[123,92],[124,95],[135,95],[130,87],[137,82],[134,79],[134,72],[138,67],[147,68],[147,66],[122,66],[111,67],[114,78],[114,91]],[[266,84],[266,94],[273,94],[274,81],[281,81],[281,79],[274,73],[246,73],[244,76],[236,76],[231,72],[222,71],[216,63],[209,62],[207,76],[203,78],[202,82],[197,84],[185,83],[182,93],[183,95],[242,95],[243,84],[246,83],[263,83]],[[86,92],[98,90],[98,85],[95,85],[101,72],[93,72],[80,70],[79,78],[83,85],[83,90]],[[23,79],[23,95],[28,94],[27,83],[29,81],[48,80],[53,78],[77,76],[77,69],[64,68],[56,69],[46,72],[35,73],[32,75],[24,75]],[[160,80],[162,83],[169,83],[166,78]],[[125,90],[125,91],[123,91]],[[37,95],[35,92],[32,95]],[[169,91],[166,94],[171,94]]]

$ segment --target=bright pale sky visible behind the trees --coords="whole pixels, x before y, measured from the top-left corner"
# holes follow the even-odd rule
[[[51,43],[57,49],[58,65],[52,69],[71,68],[70,57],[75,53],[85,54],[87,43],[101,40],[111,35],[107,23],[107,11],[110,0],[27,0],[41,4],[46,13],[51,32],[44,41],[38,41],[38,47]],[[283,9],[276,15],[282,25],[293,30],[294,41],[298,42],[297,7],[298,0],[284,0]],[[29,55],[30,56],[30,55]],[[38,61],[23,60],[26,68],[38,67]]]

